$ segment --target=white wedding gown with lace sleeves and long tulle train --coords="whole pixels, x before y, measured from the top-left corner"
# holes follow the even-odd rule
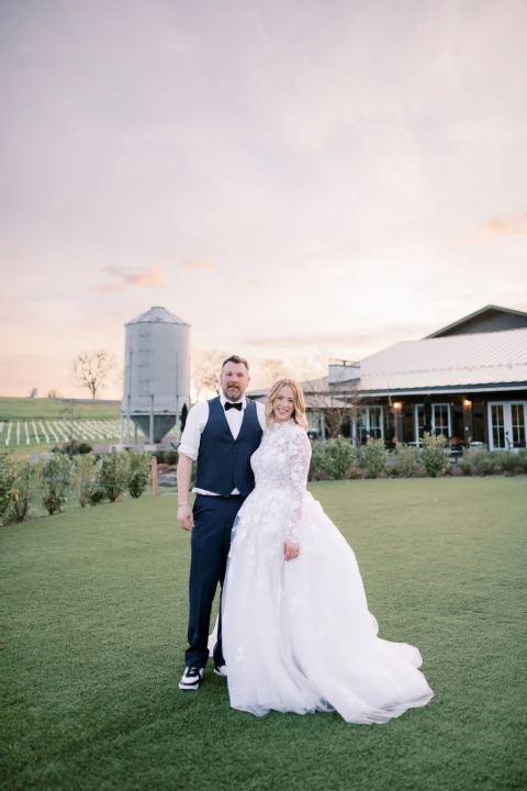
[[[256,488],[233,528],[223,651],[234,709],[334,711],[384,723],[433,698],[417,648],[377,636],[357,560],[306,491],[311,445],[293,420],[253,454]],[[283,559],[283,542],[300,555]]]

